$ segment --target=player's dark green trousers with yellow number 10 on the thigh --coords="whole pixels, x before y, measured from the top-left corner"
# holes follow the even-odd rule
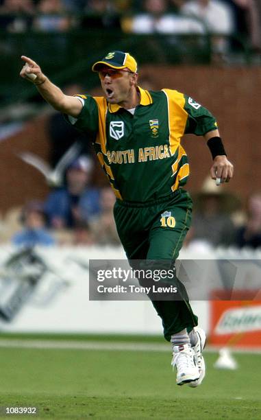
[[[175,263],[190,227],[191,211],[192,200],[183,189],[149,202],[116,200],[114,218],[127,258]],[[172,334],[197,325],[184,285],[176,281],[182,299],[152,300],[168,341]]]

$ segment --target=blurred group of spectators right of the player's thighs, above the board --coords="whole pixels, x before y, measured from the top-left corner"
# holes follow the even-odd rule
[[[261,191],[249,194],[242,203],[224,185],[216,187],[207,177],[193,198],[187,248],[202,252],[217,247],[261,248]]]

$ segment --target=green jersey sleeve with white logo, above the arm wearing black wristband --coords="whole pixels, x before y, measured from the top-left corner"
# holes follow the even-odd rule
[[[216,119],[207,108],[201,106],[187,95],[185,97],[184,109],[188,113],[185,133],[197,136],[205,135],[206,132],[216,130]]]

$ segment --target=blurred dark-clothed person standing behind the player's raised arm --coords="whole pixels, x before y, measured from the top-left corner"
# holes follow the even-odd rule
[[[76,95],[83,92],[82,86],[71,84],[66,86],[64,93],[66,95]],[[70,124],[67,124],[61,113],[55,112],[47,121],[47,131],[50,139],[50,162],[53,167],[60,161],[64,153],[77,141],[82,145],[81,154],[92,154],[90,143],[86,141],[86,137],[76,130]]]

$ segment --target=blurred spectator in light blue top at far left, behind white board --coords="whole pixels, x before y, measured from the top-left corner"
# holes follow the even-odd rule
[[[12,237],[14,245],[32,247],[55,244],[53,237],[45,227],[46,214],[41,202],[29,202],[22,211],[21,221],[25,227]]]

